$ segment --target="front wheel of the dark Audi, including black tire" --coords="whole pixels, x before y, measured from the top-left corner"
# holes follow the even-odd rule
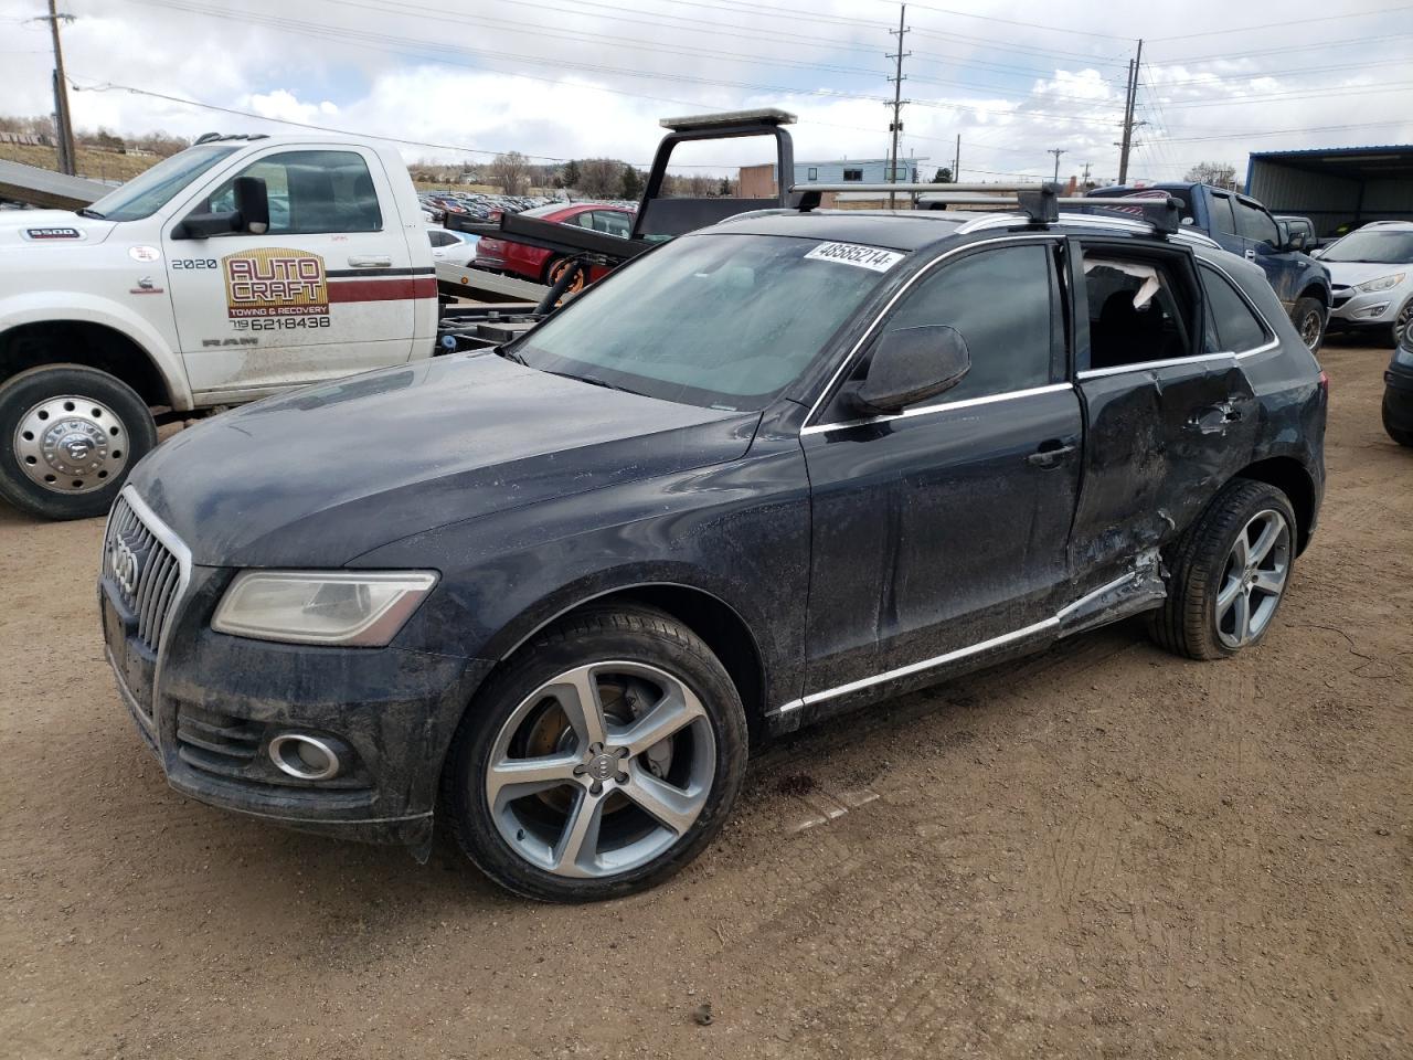
[[[601,741],[575,708],[586,687],[608,718]],[[649,725],[666,738],[626,745]],[[585,611],[537,635],[471,704],[442,770],[442,811],[466,856],[517,895],[622,897],[712,841],[746,750],[740,695],[695,633],[650,608]],[[544,772],[526,782],[517,763],[531,759]]]

